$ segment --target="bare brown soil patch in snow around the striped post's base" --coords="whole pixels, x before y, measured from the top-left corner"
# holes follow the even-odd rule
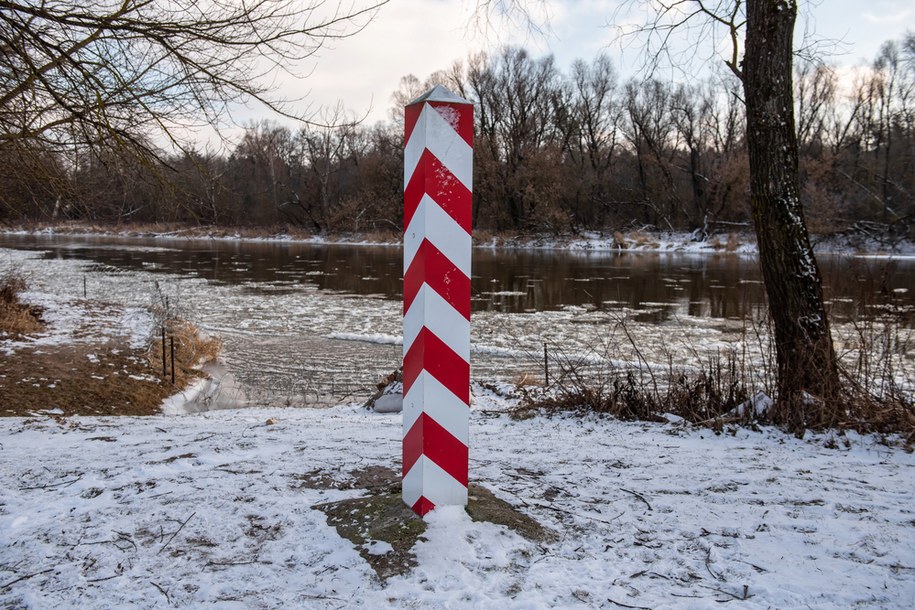
[[[314,470],[296,477],[299,486],[317,489],[364,489],[361,498],[318,504],[327,523],[356,545],[359,554],[382,581],[409,573],[416,567],[413,547],[426,531],[426,522],[404,504],[400,475],[384,466],[354,470],[342,479]],[[474,521],[488,521],[515,531],[535,542],[555,542],[555,532],[519,512],[480,485],[471,484],[467,514]]]

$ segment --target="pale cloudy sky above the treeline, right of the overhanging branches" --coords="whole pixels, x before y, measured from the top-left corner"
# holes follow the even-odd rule
[[[284,83],[280,93],[307,97],[312,108],[342,101],[371,123],[387,118],[391,94],[402,76],[412,73],[422,80],[472,52],[505,43],[524,46],[535,57],[552,53],[563,70],[575,59],[590,61],[604,50],[625,78],[636,74],[642,62],[638,49],[621,52],[614,43],[617,30],[612,25],[638,18],[619,15],[619,4],[548,0],[549,31],[538,36],[499,21],[488,32],[479,31],[471,23],[475,0],[391,0],[363,32],[323,49],[307,80]],[[869,63],[884,41],[915,29],[912,0],[801,0],[801,12],[796,42],[805,24],[819,39],[841,40],[844,45],[832,47],[835,54],[828,60],[841,66]],[[611,25],[614,15],[617,20]],[[259,118],[255,114],[236,118]]]

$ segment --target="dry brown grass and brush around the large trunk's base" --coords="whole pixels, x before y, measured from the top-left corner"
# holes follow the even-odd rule
[[[666,421],[667,414],[688,422],[721,431],[726,423],[769,423],[785,425],[790,431],[856,430],[862,433],[899,435],[909,448],[915,444],[915,395],[911,387],[901,387],[901,361],[909,353],[899,321],[884,319],[879,323],[857,327],[853,352],[845,354],[842,374],[844,386],[830,401],[809,397],[804,405],[793,405],[801,413],[785,417],[786,405],[778,403],[774,390],[775,358],[759,328],[745,331],[744,342],[757,341],[763,362],[751,362],[746,345],[711,357],[700,365],[678,366],[668,358],[666,366],[649,365],[639,356],[628,366],[613,365],[625,361],[618,353],[601,353],[604,364],[595,365],[594,354],[575,359],[563,354],[551,355],[549,387],[519,382],[523,397],[513,415],[527,418],[537,412],[572,412],[606,414],[622,420]],[[639,354],[639,346],[633,342]],[[618,346],[617,346],[618,347]],[[599,350],[595,350],[599,353]],[[775,399],[774,408],[756,414],[749,408],[751,397],[759,392]],[[796,429],[790,421],[803,421]]]

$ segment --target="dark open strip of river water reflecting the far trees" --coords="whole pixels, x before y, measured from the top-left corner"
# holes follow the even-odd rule
[[[246,284],[265,294],[310,285],[318,290],[400,299],[396,247],[230,240],[0,235],[0,246],[47,251],[99,266]],[[834,318],[902,311],[912,324],[915,259],[820,257]],[[626,310],[660,323],[689,315],[755,316],[765,292],[754,258],[730,254],[474,251],[474,311],[530,312],[568,307]]]

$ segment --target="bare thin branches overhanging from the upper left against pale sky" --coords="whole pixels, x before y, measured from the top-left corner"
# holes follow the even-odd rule
[[[269,77],[307,69],[386,2],[0,0],[0,147],[148,154],[147,135],[217,125],[252,100],[303,118]]]

